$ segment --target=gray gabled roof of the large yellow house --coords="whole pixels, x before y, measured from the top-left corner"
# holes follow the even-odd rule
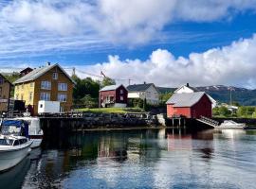
[[[68,77],[73,83],[75,83],[73,81],[73,79],[71,77],[69,77],[68,74],[66,74],[64,69],[58,63],[56,63],[56,64],[47,65],[47,66],[44,66],[44,67],[41,67],[41,68],[34,69],[33,71],[29,72],[24,77],[21,77],[21,78],[15,80],[13,82],[13,84],[24,83],[24,82],[27,82],[27,81],[35,80],[36,78],[41,77],[44,74],[46,74],[47,71],[51,70],[55,66],[58,66],[64,72],[66,77]]]

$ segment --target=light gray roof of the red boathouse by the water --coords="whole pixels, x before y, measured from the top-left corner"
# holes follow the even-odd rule
[[[166,104],[174,104],[174,107],[192,107],[201,99],[204,94],[206,93],[195,92],[190,94],[173,94],[166,102]]]

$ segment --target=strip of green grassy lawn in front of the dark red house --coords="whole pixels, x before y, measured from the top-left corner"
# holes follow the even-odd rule
[[[143,112],[139,108],[99,108],[99,109],[77,109],[79,112],[116,112],[116,113],[126,113],[126,112]]]

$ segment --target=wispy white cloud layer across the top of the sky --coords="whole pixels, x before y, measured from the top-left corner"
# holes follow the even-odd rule
[[[134,45],[157,39],[174,21],[211,22],[247,9],[256,0],[13,0],[0,6],[0,40],[76,35]]]

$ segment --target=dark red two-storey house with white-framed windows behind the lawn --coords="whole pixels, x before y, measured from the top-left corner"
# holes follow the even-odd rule
[[[124,108],[127,106],[128,91],[123,85],[109,85],[100,90],[100,107]]]

